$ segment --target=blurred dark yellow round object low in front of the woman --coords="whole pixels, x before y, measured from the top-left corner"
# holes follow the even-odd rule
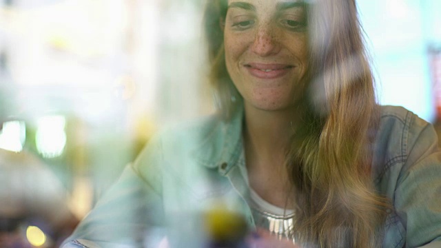
[[[212,240],[234,242],[247,234],[245,218],[234,211],[212,209],[204,217],[205,227]]]

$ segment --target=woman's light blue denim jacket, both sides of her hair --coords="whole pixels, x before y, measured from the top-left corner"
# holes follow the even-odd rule
[[[238,212],[254,229],[242,121],[240,110],[228,122],[210,116],[156,135],[63,247],[203,247],[201,213],[213,207]],[[441,247],[441,153],[432,125],[383,106],[372,166],[378,193],[393,204],[382,247]]]

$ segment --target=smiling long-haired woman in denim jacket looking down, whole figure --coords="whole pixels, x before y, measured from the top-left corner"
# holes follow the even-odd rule
[[[433,127],[376,103],[354,0],[209,0],[218,114],[167,129],[66,247],[441,242]]]

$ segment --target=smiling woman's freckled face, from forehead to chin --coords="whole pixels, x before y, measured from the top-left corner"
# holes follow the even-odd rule
[[[284,110],[307,70],[307,17],[298,0],[228,0],[224,27],[229,76],[247,107]]]

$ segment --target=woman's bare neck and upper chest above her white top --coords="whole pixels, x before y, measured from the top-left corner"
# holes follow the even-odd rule
[[[292,111],[267,112],[245,105],[244,146],[249,185],[267,202],[292,207],[285,152]]]

